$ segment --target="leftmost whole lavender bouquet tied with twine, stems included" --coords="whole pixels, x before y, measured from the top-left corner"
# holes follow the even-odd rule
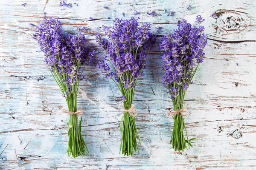
[[[77,28],[76,35],[64,34],[61,31],[61,22],[58,18],[45,19],[36,27],[35,38],[44,52],[44,61],[61,89],[62,96],[67,102],[67,110],[64,113],[70,114],[68,129],[68,150],[67,155],[74,158],[89,153],[84,139],[81,135],[81,121],[78,122],[77,91],[80,80],[84,79],[82,73],[85,65],[89,64],[95,56],[95,51],[88,51],[84,48],[86,42],[80,28]],[[79,124],[78,124],[79,123]]]

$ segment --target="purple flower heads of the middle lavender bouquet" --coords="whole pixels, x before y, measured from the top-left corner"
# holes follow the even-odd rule
[[[100,61],[98,67],[108,78],[116,80],[126,89],[134,87],[137,78],[143,73],[146,65],[146,51],[154,44],[156,36],[150,32],[150,24],[139,23],[133,17],[130,20],[116,18],[113,27],[105,27],[108,40],[103,40],[96,34],[96,42],[105,51],[105,61]],[[111,71],[110,68],[114,70]],[[126,76],[130,75],[130,76]],[[126,96],[123,94],[123,96]]]

